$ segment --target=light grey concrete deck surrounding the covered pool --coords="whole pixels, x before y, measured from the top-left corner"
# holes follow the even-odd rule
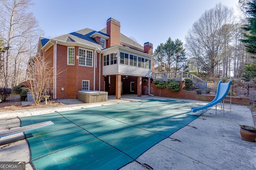
[[[0,112],[0,131],[6,131],[10,127],[20,126],[18,117],[53,113],[54,111],[67,111],[86,107],[106,106],[116,103],[130,101],[157,99],[172,99],[187,101],[194,104],[206,104],[207,102],[180,100],[157,96],[135,97],[134,95],[124,96],[121,100],[114,99],[114,96],[107,102],[94,104],[81,104],[78,100],[58,100],[66,106],[46,107],[39,109],[24,109],[17,111]],[[227,105],[226,105],[227,106]],[[43,113],[42,113],[43,112]],[[186,127],[173,133],[170,138],[164,139],[154,147],[137,158],[142,164],[148,164],[154,170],[162,169],[256,169],[256,143],[244,141],[240,138],[239,124],[253,125],[252,113],[249,106],[232,104],[231,112],[225,109],[223,117],[220,105],[207,111],[206,116],[202,114]],[[14,129],[14,128],[12,128]],[[15,135],[24,136],[23,133]],[[13,137],[13,136],[12,136]],[[2,137],[1,141],[10,139]],[[26,140],[0,146],[0,162],[4,161],[25,161],[30,162],[30,151]],[[122,170],[144,170],[145,167],[138,162],[121,168]],[[32,170],[27,163],[26,170]]]

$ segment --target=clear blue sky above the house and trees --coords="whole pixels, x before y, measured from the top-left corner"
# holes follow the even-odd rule
[[[121,23],[121,33],[154,49],[168,37],[185,43],[185,35],[200,16],[219,2],[237,11],[238,0],[33,0],[44,37],[53,38],[84,28],[106,27],[108,18]]]

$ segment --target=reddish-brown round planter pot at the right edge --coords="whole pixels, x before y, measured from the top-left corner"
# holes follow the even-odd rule
[[[250,141],[250,142],[256,142],[256,128],[252,126],[246,126],[246,125],[239,125],[240,126],[240,134],[241,138]]]

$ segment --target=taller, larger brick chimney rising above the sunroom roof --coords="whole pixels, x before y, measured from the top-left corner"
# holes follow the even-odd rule
[[[109,39],[106,47],[112,47],[120,44],[120,21],[109,18],[107,20],[107,34]]]

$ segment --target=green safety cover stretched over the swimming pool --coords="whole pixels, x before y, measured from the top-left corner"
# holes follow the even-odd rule
[[[198,118],[191,107],[189,102],[143,100],[20,119],[22,126],[54,123],[28,131],[36,170],[107,170],[122,168]]]

